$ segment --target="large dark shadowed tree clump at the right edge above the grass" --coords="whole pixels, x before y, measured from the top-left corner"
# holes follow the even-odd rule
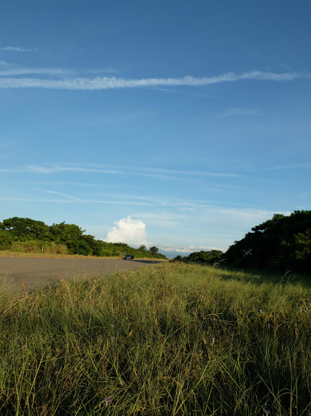
[[[228,263],[283,272],[311,271],[311,211],[274,214],[251,231],[229,247],[224,254]]]

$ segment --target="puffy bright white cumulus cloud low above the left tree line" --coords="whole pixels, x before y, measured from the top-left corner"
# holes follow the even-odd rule
[[[106,240],[108,243],[127,243],[128,245],[141,245],[147,241],[145,223],[133,220],[130,216],[115,221],[114,227],[109,228]]]

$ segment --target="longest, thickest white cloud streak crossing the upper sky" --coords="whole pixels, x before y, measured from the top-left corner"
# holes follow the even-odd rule
[[[243,73],[228,72],[219,76],[196,78],[184,76],[182,78],[141,78],[126,79],[116,77],[96,78],[67,78],[62,80],[50,80],[39,78],[2,78],[0,88],[44,88],[44,89],[68,89],[68,90],[98,90],[98,89],[122,89],[158,86],[192,86],[212,85],[217,83],[232,83],[240,80],[269,80],[291,81],[296,79],[311,78],[310,73],[284,72],[274,73],[267,71],[249,71]]]

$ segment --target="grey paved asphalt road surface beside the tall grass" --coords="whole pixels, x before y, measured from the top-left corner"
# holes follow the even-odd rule
[[[34,288],[54,284],[69,277],[112,275],[121,270],[134,270],[157,261],[116,259],[43,259],[0,257],[0,286]]]

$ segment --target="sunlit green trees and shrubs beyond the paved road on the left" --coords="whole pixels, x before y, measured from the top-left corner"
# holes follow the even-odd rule
[[[63,222],[49,226],[30,218],[8,218],[0,223],[0,250],[97,257],[123,257],[125,254],[133,254],[134,257],[166,259],[155,246],[150,250],[145,245],[136,249],[125,243],[96,240],[94,236],[84,232],[75,224]]]

